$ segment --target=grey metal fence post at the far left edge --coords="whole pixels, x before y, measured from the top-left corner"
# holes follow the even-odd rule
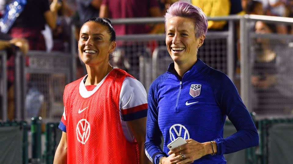
[[[7,121],[7,53],[5,51],[0,51],[1,56],[2,56],[2,72],[1,72],[1,78],[2,78],[2,86],[1,90],[2,93],[2,100],[1,100],[1,105],[2,105],[2,121]]]

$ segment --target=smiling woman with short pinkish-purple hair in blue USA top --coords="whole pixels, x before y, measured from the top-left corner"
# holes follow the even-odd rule
[[[206,15],[187,2],[175,2],[165,15],[165,28],[174,63],[150,86],[148,158],[155,164],[226,163],[223,154],[258,145],[258,132],[233,82],[197,59],[208,28]],[[223,138],[226,116],[237,132]],[[178,137],[187,143],[169,150]]]

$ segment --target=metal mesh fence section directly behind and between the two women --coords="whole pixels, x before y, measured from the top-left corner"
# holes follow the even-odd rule
[[[231,19],[231,20],[230,20]],[[209,66],[226,73],[234,79],[234,22],[229,20],[228,31],[208,32],[204,44],[199,48],[197,57]],[[124,22],[126,21],[126,23]],[[163,22],[164,19],[119,19],[113,24]],[[136,34],[117,36],[117,49],[112,65],[126,70],[136,77],[148,91],[151,82],[166,72],[172,59],[167,51],[165,34]]]

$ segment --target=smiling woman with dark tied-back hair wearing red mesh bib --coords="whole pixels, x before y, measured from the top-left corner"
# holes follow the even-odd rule
[[[147,94],[138,80],[110,65],[115,39],[109,19],[91,18],[81,26],[78,50],[88,74],[64,89],[54,163],[148,162]]]

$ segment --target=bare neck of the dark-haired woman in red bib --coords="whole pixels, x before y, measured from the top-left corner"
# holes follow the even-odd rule
[[[110,63],[104,63],[99,66],[86,65],[88,77],[85,80],[85,85],[97,85],[103,78],[112,70]]]

